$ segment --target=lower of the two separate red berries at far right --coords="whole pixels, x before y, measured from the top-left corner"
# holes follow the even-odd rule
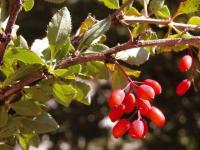
[[[184,95],[189,90],[190,86],[191,86],[191,81],[188,79],[184,79],[178,84],[176,88],[176,94],[179,96]]]

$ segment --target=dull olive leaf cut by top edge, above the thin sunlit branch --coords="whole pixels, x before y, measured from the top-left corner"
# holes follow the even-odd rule
[[[164,5],[165,0],[151,0],[149,9],[152,13],[158,12]]]

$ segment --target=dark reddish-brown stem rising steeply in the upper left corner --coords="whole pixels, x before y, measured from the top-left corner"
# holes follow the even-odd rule
[[[6,26],[6,29],[5,29],[6,39],[3,43],[0,44],[0,63],[2,63],[2,59],[3,59],[3,55],[5,53],[6,47],[10,43],[12,29],[15,25],[15,22],[17,20],[17,16],[20,12],[21,5],[22,5],[22,0],[14,0],[14,2],[12,3],[10,17],[8,19],[8,23],[7,23],[7,26]]]

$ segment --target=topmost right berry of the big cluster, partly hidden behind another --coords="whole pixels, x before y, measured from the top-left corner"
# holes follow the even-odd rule
[[[161,94],[162,87],[157,81],[152,80],[152,79],[146,79],[144,81],[144,84],[149,85],[150,87],[152,87],[156,95]]]

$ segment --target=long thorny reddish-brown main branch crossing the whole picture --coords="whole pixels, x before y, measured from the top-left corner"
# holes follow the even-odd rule
[[[176,44],[200,44],[200,36],[194,36],[188,39],[185,38],[176,38],[176,39],[159,39],[159,40],[139,40],[136,42],[127,42],[115,47],[112,47],[108,50],[105,50],[101,53],[97,54],[89,54],[89,55],[79,55],[73,58],[63,59],[57,66],[56,69],[67,68],[77,64],[83,64],[89,61],[106,61],[112,54],[115,54],[120,51],[124,51],[130,48],[137,48],[137,47],[146,47],[146,46],[174,46]],[[12,94],[22,90],[24,86],[30,85],[33,82],[39,81],[45,78],[45,72],[38,72],[29,75],[24,80],[18,82],[17,84],[13,85],[3,94],[0,94],[0,100],[5,100],[7,97],[11,96]]]

